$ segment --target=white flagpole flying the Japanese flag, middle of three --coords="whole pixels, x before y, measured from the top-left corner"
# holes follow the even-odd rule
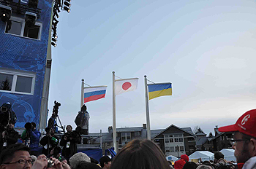
[[[113,146],[114,150],[117,153],[117,145],[116,145],[116,92],[115,92],[115,71],[113,74]]]

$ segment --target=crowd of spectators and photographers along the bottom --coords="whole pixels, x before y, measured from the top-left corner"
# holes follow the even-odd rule
[[[228,162],[221,152],[216,152],[214,161],[192,162],[186,154],[182,154],[173,165],[167,162],[159,146],[147,139],[134,139],[113,160],[103,156],[98,162],[77,151],[77,144],[81,140],[80,126],[72,130],[72,126],[67,125],[67,133],[61,138],[56,136],[53,128],[47,127],[46,135],[41,138],[36,124],[31,122],[26,124],[26,130],[20,137],[24,143],[17,144],[19,135],[14,125],[15,122],[9,122],[0,134],[0,169],[256,169],[256,109],[244,113],[234,125],[219,127],[220,132],[234,132],[236,162]]]

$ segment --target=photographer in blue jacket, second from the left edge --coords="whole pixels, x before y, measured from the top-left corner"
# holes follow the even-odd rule
[[[21,134],[21,139],[25,141],[25,145],[31,149],[31,155],[38,156],[40,154],[39,151],[39,139],[41,137],[41,133],[36,130],[36,123],[27,122],[24,126],[26,129]]]

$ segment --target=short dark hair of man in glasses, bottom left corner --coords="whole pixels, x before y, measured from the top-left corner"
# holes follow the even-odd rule
[[[29,147],[25,146],[24,144],[13,144],[7,149],[4,149],[0,155],[0,165],[7,162],[8,160],[12,160],[15,152],[18,152],[20,150],[30,152]]]

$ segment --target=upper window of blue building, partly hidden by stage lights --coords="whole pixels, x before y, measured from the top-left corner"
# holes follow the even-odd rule
[[[6,24],[5,33],[28,37],[31,39],[40,39],[41,27],[41,23],[36,23],[29,27],[23,18],[11,17]]]

